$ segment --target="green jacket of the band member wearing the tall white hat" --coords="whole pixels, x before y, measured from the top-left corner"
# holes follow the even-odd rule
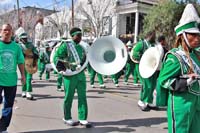
[[[161,100],[158,105],[167,103],[167,96],[170,90],[178,93],[189,92],[194,95],[200,95],[200,85],[198,81],[187,86],[186,79],[182,82],[179,78],[180,76],[187,74],[189,70],[188,65],[183,63],[181,57],[176,54],[176,51],[179,49],[180,47],[174,48],[165,56],[165,61],[163,62],[157,84],[157,93],[160,95],[160,98],[157,99]],[[200,66],[200,62],[194,52],[190,53],[190,57],[198,66]]]

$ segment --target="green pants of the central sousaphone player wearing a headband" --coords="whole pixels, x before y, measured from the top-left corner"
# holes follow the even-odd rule
[[[67,79],[64,77],[64,118],[65,120],[72,119],[71,107],[75,90],[78,94],[78,118],[79,120],[86,120],[88,115],[87,100],[86,100],[86,80],[78,80],[76,76]]]

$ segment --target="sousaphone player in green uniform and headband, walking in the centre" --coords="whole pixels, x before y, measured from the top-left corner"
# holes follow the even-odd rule
[[[57,64],[59,60],[68,61],[69,64],[75,62],[76,64],[82,64],[84,61],[84,50],[79,45],[82,39],[81,29],[72,28],[70,30],[70,35],[72,37],[72,41],[70,42],[62,42],[60,47],[55,52],[54,55],[54,64]],[[70,65],[71,66],[71,65]],[[72,65],[72,69],[77,69],[79,65]],[[57,68],[58,69],[58,68]],[[58,70],[59,71],[59,70]],[[78,74],[72,76],[65,76],[64,78],[64,122],[70,126],[76,126],[79,123],[84,125],[86,128],[90,128],[92,125],[89,123],[87,119],[88,115],[88,107],[87,107],[87,99],[86,99],[86,76],[84,71],[81,71]],[[78,117],[79,121],[72,120],[71,117],[71,107],[72,101],[74,97],[75,90],[78,94]]]

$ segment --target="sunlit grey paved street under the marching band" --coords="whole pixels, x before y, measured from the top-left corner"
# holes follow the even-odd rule
[[[45,75],[43,75],[44,79]],[[132,77],[129,84],[119,80],[115,87],[109,78],[106,88],[95,88],[89,85],[87,77],[88,121],[93,128],[82,126],[69,127],[62,121],[64,92],[56,90],[56,76],[51,80],[39,80],[38,74],[33,76],[33,94],[35,100],[21,98],[21,83],[14,104],[14,111],[9,133],[167,133],[165,110],[142,112],[138,106],[140,87],[133,86]],[[74,97],[72,117],[77,120],[77,96]]]

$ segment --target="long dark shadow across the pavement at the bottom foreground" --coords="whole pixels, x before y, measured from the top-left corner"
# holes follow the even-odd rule
[[[78,126],[77,128],[70,129],[56,129],[56,130],[45,130],[45,131],[31,131],[25,133],[110,133],[110,132],[135,132],[134,127],[150,127],[151,125],[159,125],[167,122],[165,117],[158,118],[144,118],[144,119],[126,119],[120,121],[108,121],[108,122],[92,122],[93,128],[86,129]],[[120,128],[125,126],[126,128]],[[167,130],[167,128],[164,128]]]

